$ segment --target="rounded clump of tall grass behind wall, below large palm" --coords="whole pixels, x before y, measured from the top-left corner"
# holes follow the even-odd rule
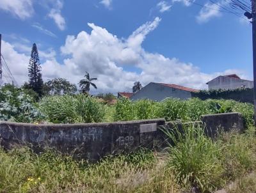
[[[90,96],[47,96],[40,109],[52,123],[92,123],[103,120],[104,106]]]

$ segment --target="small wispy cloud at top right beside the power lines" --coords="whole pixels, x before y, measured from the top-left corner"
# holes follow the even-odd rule
[[[220,6],[219,4],[211,4],[211,3],[205,3],[204,8],[202,8],[199,12],[199,14],[196,16],[196,20],[199,23],[208,22],[210,19],[214,17],[220,17]]]

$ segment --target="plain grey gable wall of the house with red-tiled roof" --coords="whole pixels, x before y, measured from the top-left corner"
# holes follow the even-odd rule
[[[168,97],[186,100],[191,98],[191,92],[150,82],[147,86],[143,87],[140,91],[131,96],[131,100],[147,98],[150,100],[161,101]]]

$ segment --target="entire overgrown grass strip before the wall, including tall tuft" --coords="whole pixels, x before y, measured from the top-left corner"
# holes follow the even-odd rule
[[[255,176],[246,177],[256,172],[253,132],[212,140],[191,126],[168,136],[173,143],[165,153],[140,149],[97,164],[52,150],[40,155],[25,148],[0,150],[0,192],[212,192],[232,181],[237,192],[255,190]]]

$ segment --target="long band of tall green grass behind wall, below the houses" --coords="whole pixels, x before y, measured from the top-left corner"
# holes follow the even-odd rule
[[[252,104],[240,103],[234,100],[200,100],[199,98],[189,100],[166,98],[161,102],[147,99],[132,102],[127,98],[120,98],[115,105],[113,120],[165,118],[166,121],[199,121],[203,114],[223,112],[241,112],[246,127],[250,127],[254,123]]]

